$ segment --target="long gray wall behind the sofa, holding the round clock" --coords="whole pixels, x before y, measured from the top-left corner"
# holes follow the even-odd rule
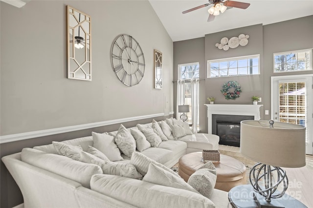
[[[66,5],[91,17],[91,82],[66,78]],[[1,1],[0,25],[1,136],[164,113],[155,118],[161,120],[173,111],[173,42],[149,1],[31,0],[22,8]],[[132,35],[145,56],[144,78],[133,87],[116,78],[110,62],[111,44],[120,34]],[[153,88],[154,49],[163,53],[162,90]],[[3,143],[0,157],[118,126]],[[0,168],[0,207],[21,204],[19,188],[2,162]]]

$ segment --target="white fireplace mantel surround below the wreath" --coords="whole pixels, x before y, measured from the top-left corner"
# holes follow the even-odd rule
[[[207,130],[212,134],[212,115],[242,115],[254,116],[260,120],[260,107],[262,104],[204,104],[207,106]]]

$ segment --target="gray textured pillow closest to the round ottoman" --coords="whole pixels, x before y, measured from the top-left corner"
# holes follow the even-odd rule
[[[208,162],[212,163],[212,162]],[[212,164],[213,165],[213,164]],[[208,166],[211,166],[208,164]],[[214,165],[213,165],[214,166]],[[211,166],[212,167],[212,166]],[[216,183],[216,169],[208,169],[201,167],[194,172],[188,179],[188,184],[194,187],[203,196],[209,198],[213,193],[213,189]]]

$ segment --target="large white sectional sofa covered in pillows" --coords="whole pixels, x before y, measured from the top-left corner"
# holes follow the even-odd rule
[[[161,126],[161,122],[158,125]],[[140,127],[151,126],[152,123]],[[138,128],[134,126],[132,129]],[[112,136],[116,134],[117,131],[110,132]],[[218,142],[219,137],[216,135],[189,134],[162,141],[157,147],[141,151],[141,154],[170,168],[186,152],[218,149]],[[85,152],[89,146],[94,145],[94,137],[61,143],[81,146]],[[123,160],[115,161],[116,163],[132,164],[132,159],[123,153],[121,156]],[[207,198],[199,192],[104,174],[101,166],[94,163],[59,155],[53,144],[24,148],[20,153],[3,157],[2,161],[22,191],[25,208],[226,208],[228,205],[225,191],[213,189]]]

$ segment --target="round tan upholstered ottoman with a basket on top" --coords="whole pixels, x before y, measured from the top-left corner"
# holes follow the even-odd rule
[[[178,174],[186,182],[191,174],[204,165],[202,152],[192,152],[179,159]],[[246,166],[227,155],[220,155],[220,163],[214,163],[217,171],[216,185],[214,188],[229,191],[232,187],[246,184]]]

